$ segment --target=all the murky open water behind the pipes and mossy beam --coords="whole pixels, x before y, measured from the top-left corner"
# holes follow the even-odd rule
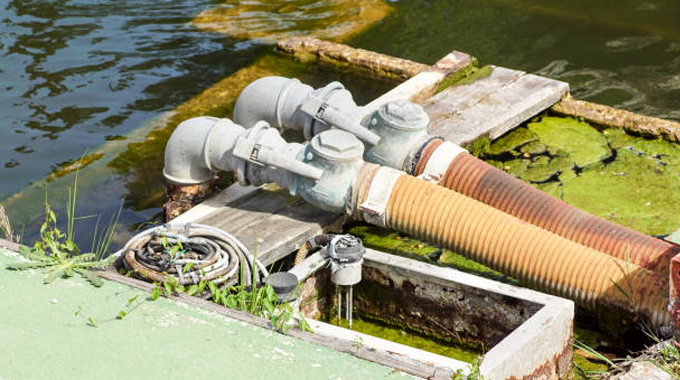
[[[375,1],[347,2],[365,12]],[[80,215],[107,217],[125,198],[120,239],[158,220],[164,112],[253,63],[268,59],[259,73],[316,84],[341,79],[360,102],[389,87],[266,58],[274,35],[311,30],[427,63],[457,49],[569,81],[575,97],[680,120],[676,1],[403,0],[380,3],[385,18],[356,26],[360,33],[351,32],[340,0],[277,3],[249,2],[255,8],[235,13],[238,25],[269,25],[268,36],[192,24],[215,7],[234,13],[235,1],[0,0],[0,199],[15,224],[26,225],[26,237],[35,236],[42,187],[49,184],[51,199],[64,204],[73,162],[84,154],[90,165],[81,170]],[[192,107],[230,113],[228,105]],[[87,244],[92,223],[80,224]]]

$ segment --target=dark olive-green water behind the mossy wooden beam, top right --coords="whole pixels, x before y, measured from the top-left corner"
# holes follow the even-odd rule
[[[680,2],[411,0],[350,44],[434,62],[450,50],[569,81],[575,97],[680,120]]]

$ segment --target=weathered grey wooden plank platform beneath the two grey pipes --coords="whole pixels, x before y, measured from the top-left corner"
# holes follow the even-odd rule
[[[522,71],[493,67],[485,78],[435,93],[441,82],[471,63],[452,52],[368,104],[366,112],[396,99],[423,104],[430,133],[456,143],[481,136],[495,139],[559,101],[569,86]],[[347,216],[324,212],[275,188],[232,185],[173,222],[196,222],[230,232],[269,265],[295,251],[309,237],[339,232]]]

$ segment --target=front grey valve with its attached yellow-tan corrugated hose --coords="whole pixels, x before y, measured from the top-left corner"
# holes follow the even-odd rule
[[[232,128],[231,133],[239,132]],[[247,132],[222,138],[237,141],[243,134]],[[243,164],[234,156],[237,149],[221,149],[220,162],[234,165],[220,166],[224,170]],[[295,155],[301,165],[322,171],[320,178],[265,166],[243,171],[243,181],[260,183],[283,176],[282,187],[324,210],[345,212],[431,241],[592,311],[638,314],[659,329],[670,323],[666,276],[604,255],[455,191],[366,163],[362,155],[363,144],[356,137],[329,130],[301,146]]]

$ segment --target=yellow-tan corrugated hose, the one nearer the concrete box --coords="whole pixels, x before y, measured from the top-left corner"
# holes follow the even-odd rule
[[[371,203],[367,198],[372,187],[392,186],[379,183],[385,181],[376,173],[384,170],[392,169],[366,165],[357,177],[355,202],[363,205],[359,218],[369,219],[365,205]],[[639,314],[657,328],[670,323],[666,276],[433,183],[407,175],[398,176],[392,183],[384,206],[385,227],[451,249],[587,309],[600,312],[613,308]]]

